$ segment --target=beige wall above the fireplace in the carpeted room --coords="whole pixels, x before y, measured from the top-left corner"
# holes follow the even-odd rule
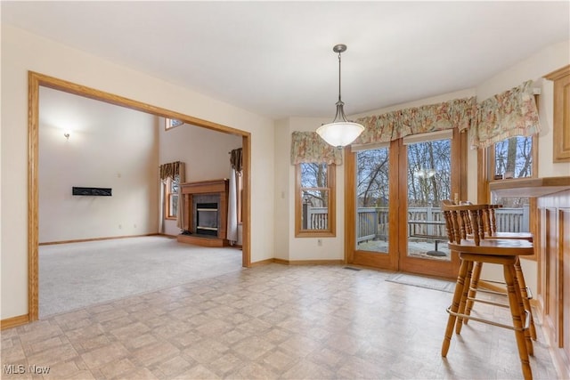
[[[195,125],[180,125],[165,131],[160,118],[160,164],[182,161],[186,164],[186,182],[229,178],[229,151],[241,148],[241,136],[211,131]],[[178,235],[176,221],[165,221],[165,233]]]

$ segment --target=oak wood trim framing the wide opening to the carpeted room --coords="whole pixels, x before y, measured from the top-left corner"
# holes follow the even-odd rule
[[[243,232],[242,232],[242,266],[251,266],[250,251],[250,170],[251,170],[251,133],[231,126],[217,124],[198,117],[191,117],[179,112],[124,98],[113,93],[77,85],[56,77],[49,77],[37,72],[28,71],[28,321],[37,320],[39,316],[39,87],[45,86],[73,93],[96,101],[104,101],[127,109],[150,113],[159,117],[175,118],[184,123],[208,128],[222,133],[231,133],[242,138],[243,149]]]

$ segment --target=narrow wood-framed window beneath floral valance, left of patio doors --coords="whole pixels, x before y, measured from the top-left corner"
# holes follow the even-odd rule
[[[327,164],[296,166],[295,236],[336,236],[335,170]]]

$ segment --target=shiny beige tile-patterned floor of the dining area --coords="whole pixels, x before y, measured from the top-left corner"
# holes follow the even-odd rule
[[[2,378],[522,378],[499,327],[472,321],[442,358],[452,295],[392,274],[270,264],[55,315],[2,331]],[[533,376],[556,378],[538,329]]]

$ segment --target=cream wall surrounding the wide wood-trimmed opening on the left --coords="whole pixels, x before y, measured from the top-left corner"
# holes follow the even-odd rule
[[[28,70],[251,133],[251,261],[273,257],[273,120],[19,28],[1,32],[1,319],[28,313]]]

